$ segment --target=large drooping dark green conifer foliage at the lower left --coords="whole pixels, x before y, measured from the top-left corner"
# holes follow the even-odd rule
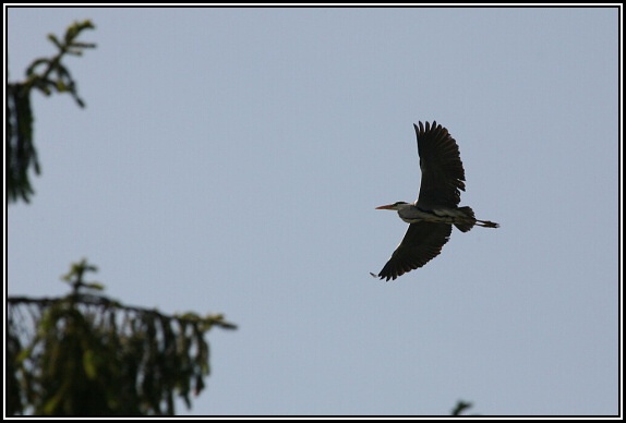
[[[63,298],[9,298],[8,414],[173,414],[174,395],[191,407],[191,395],[204,389],[204,335],[236,326],[221,315],[122,305],[83,280],[95,270],[74,264],[64,277],[72,292]]]

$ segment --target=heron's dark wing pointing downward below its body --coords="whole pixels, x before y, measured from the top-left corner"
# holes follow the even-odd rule
[[[422,267],[440,255],[450,237],[452,225],[421,221],[409,225],[400,245],[378,274],[381,279],[396,279],[398,276]]]

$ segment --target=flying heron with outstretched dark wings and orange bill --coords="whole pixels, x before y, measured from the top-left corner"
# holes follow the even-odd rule
[[[396,210],[409,229],[392,258],[378,275],[381,279],[396,279],[408,271],[422,267],[440,255],[453,231],[453,225],[461,232],[474,225],[497,228],[499,225],[474,217],[471,207],[458,207],[460,191],[465,191],[465,170],[459,147],[448,130],[433,122],[425,126],[413,124],[418,135],[418,153],[422,183],[414,203],[397,202],[376,207]]]

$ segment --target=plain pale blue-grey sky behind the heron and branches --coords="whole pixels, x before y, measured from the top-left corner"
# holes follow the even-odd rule
[[[11,81],[74,21],[87,107],[35,95],[8,292],[73,262],[123,303],[224,313],[186,414],[618,411],[617,9],[9,9]],[[457,140],[454,230],[384,282],[413,123]]]

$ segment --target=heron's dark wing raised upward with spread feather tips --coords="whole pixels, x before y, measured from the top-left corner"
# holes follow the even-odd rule
[[[465,191],[465,170],[459,147],[448,130],[433,122],[416,126],[422,183],[418,207],[433,209],[437,206],[456,207],[460,191]]]

